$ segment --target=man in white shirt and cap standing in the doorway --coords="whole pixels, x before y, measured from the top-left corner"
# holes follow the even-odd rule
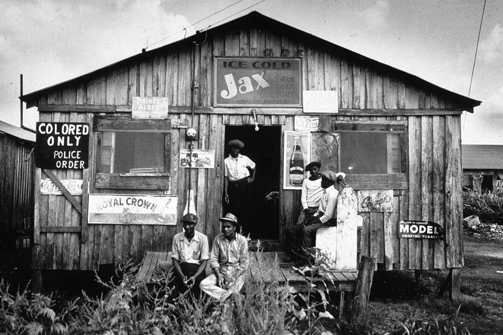
[[[255,162],[239,152],[244,143],[231,140],[227,143],[230,154],[224,160],[224,197],[229,204],[228,211],[240,219],[241,234],[250,232],[249,202],[251,199],[251,183],[255,180]]]

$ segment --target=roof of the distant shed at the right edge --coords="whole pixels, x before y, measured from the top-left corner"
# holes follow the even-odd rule
[[[503,170],[503,145],[464,144],[463,169]]]

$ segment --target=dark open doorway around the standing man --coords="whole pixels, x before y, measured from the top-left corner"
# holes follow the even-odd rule
[[[266,200],[266,195],[280,190],[281,126],[225,126],[225,143],[238,139],[244,142],[241,154],[257,167],[253,196],[249,203],[250,237],[254,240],[279,240],[279,199]],[[225,157],[229,148],[225,146]],[[224,157],[224,158],[225,158]],[[223,201],[224,212],[226,204]]]

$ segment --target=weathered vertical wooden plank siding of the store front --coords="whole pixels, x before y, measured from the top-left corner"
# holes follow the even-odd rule
[[[195,58],[195,102],[198,108],[213,103],[213,56],[285,56],[303,55],[304,89],[336,90],[344,116],[332,116],[333,123],[382,124],[404,129],[405,171],[397,176],[393,211],[360,213],[363,220],[361,255],[376,257],[386,269],[432,269],[462,265],[461,219],[461,147],[459,110],[453,96],[436,86],[419,85],[398,71],[339,49],[323,49],[307,38],[281,33],[271,28],[244,26],[227,31],[211,31],[202,44],[178,43],[137,57],[129,64],[119,63],[96,76],[69,83],[62,90],[54,89],[40,98],[40,121],[91,121],[93,115],[129,116],[127,106],[133,96],[167,96],[175,110],[173,119],[188,119],[199,132],[194,149],[212,149],[216,154],[215,169],[193,169],[192,185],[189,170],[178,167],[180,149],[189,148],[184,129],[171,130],[170,193],[179,196],[178,217],[187,201],[187,190],[195,191],[200,221],[197,229],[210,241],[220,232],[217,218],[222,215],[222,154],[225,125],[250,125],[249,108],[219,108],[219,113],[190,114],[192,70]],[[201,42],[201,41],[200,41]],[[51,112],[52,105],[100,105],[92,113]],[[113,109],[115,105],[115,109]],[[124,107],[126,106],[126,107]],[[122,108],[122,109],[120,109]],[[177,109],[179,108],[179,109]],[[56,108],[55,108],[56,109]],[[216,109],[216,108],[214,108]],[[372,110],[391,110],[382,116]],[[429,116],[423,110],[446,110],[445,114]],[[122,111],[119,111],[122,110]],[[213,109],[212,109],[213,110]],[[236,111],[237,110],[237,111]],[[412,114],[413,111],[413,114]],[[422,115],[424,114],[424,115]],[[269,108],[259,123],[294,130],[294,115],[283,108]],[[90,192],[117,193],[117,189],[96,187],[95,160],[90,140]],[[283,150],[283,149],[281,149]],[[281,157],[283,152],[281,152]],[[280,159],[280,158],[279,158]],[[282,166],[281,166],[282,168]],[[52,170],[58,177],[81,178],[80,170]],[[45,176],[42,174],[42,178]],[[348,176],[351,179],[351,176]],[[357,177],[355,177],[358,179]],[[377,177],[376,177],[377,178]],[[355,179],[355,180],[356,180]],[[85,181],[87,182],[87,181]],[[371,185],[371,184],[370,184]],[[381,187],[382,188],[382,187]],[[164,194],[162,189],[122,190],[129,194]],[[280,236],[287,225],[296,220],[300,191],[280,189]],[[81,201],[81,197],[78,197]],[[62,196],[42,195],[38,204],[40,226],[79,226],[80,215]],[[398,219],[434,220],[446,230],[447,241],[398,239]],[[42,257],[34,262],[39,269],[97,269],[100,264],[140,263],[147,251],[167,251],[172,238],[182,231],[177,226],[89,225],[86,243],[79,243],[78,233],[39,233]]]

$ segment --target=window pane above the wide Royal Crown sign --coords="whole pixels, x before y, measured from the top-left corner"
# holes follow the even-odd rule
[[[102,173],[163,173],[164,133],[102,132]]]

